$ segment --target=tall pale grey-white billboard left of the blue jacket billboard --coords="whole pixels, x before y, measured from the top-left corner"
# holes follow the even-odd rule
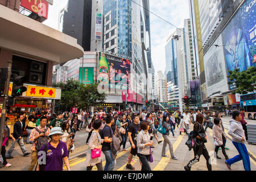
[[[208,97],[214,92],[228,91],[221,35],[218,36],[213,45],[218,46],[211,46],[204,55],[204,69]]]

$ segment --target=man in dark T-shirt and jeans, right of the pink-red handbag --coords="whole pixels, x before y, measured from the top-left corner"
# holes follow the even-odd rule
[[[112,142],[112,138],[114,137],[114,133],[111,128],[114,121],[114,118],[111,115],[108,115],[106,117],[106,125],[102,130],[102,139],[104,139],[104,142],[102,144],[102,152],[104,153],[106,158],[104,171],[113,171],[115,165],[114,159],[112,157],[112,151],[110,148],[110,143]]]

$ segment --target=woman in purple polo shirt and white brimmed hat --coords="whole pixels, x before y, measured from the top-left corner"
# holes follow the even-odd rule
[[[44,171],[63,171],[63,161],[68,171],[71,171],[68,162],[67,145],[60,140],[61,135],[63,135],[61,127],[53,127],[51,133],[48,135],[51,138],[51,141],[40,149],[40,152],[42,153],[46,151]],[[41,156],[42,155],[38,155],[38,162],[42,160],[40,159]],[[39,165],[36,167],[36,171],[39,171]]]

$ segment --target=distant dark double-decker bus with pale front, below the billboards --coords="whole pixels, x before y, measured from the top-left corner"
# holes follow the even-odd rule
[[[210,112],[210,116],[215,115],[217,111],[221,113],[221,116],[226,115],[223,97],[212,97],[203,100],[202,109],[204,109],[205,112]]]

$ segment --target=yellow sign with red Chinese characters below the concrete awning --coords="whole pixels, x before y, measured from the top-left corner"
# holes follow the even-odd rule
[[[28,96],[28,97],[55,98],[55,94],[56,94],[56,89],[54,89],[54,88],[27,85],[26,96]]]

